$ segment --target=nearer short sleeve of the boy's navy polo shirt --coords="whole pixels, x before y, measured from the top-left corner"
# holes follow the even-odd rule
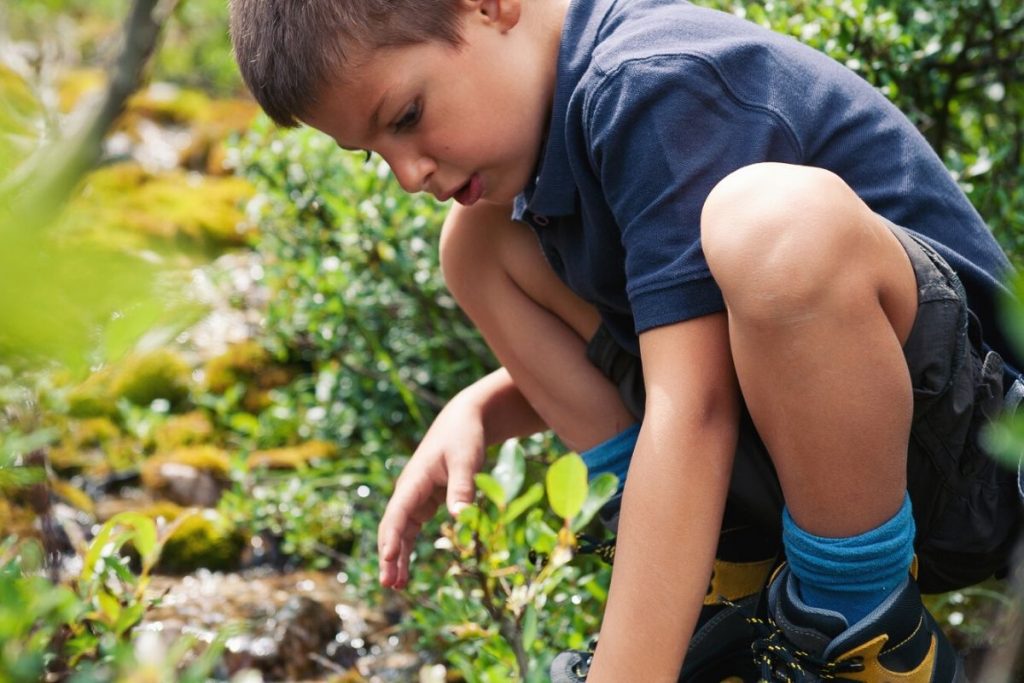
[[[800,163],[784,118],[741,100],[693,55],[620,65],[586,112],[590,163],[622,230],[636,333],[723,310],[700,249],[700,211],[738,168]]]

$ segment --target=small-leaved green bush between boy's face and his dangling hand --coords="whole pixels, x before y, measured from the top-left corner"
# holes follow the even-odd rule
[[[402,193],[383,162],[265,118],[238,163],[258,191],[262,341],[311,369],[270,410],[290,413],[300,438],[410,452],[444,400],[494,367],[440,278],[443,207]]]

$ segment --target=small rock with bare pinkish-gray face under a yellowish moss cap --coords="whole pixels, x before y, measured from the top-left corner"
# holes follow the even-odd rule
[[[230,483],[227,452],[213,445],[191,445],[158,454],[142,464],[142,485],[181,505],[216,505]]]

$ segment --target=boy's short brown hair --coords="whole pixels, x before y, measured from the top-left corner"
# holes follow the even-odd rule
[[[459,0],[230,0],[234,58],[249,90],[293,128],[360,50],[460,45]]]

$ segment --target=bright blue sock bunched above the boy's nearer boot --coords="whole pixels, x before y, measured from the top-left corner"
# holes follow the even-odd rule
[[[782,511],[782,543],[800,596],[811,607],[837,611],[852,626],[902,586],[913,560],[910,497],[878,528],[828,539],[797,526]]]

